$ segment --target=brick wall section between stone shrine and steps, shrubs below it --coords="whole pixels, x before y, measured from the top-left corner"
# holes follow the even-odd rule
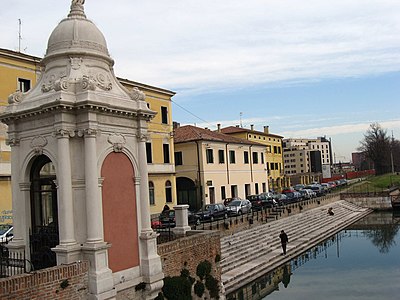
[[[189,270],[191,276],[196,275],[196,268],[203,260],[212,264],[214,277],[221,281],[219,264],[215,263],[217,255],[221,255],[219,231],[192,232],[193,235],[158,245],[165,276],[179,276],[183,268]]]

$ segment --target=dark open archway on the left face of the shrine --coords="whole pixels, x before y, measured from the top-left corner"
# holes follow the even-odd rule
[[[31,262],[35,270],[55,266],[51,248],[59,244],[56,173],[51,160],[38,156],[31,168]]]

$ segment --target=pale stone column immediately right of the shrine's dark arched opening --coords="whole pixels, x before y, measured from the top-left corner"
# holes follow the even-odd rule
[[[73,133],[72,133],[73,134]],[[59,129],[57,137],[57,188],[58,230],[60,244],[52,250],[57,254],[57,264],[71,263],[82,259],[80,246],[75,239],[74,204],[72,196],[72,171],[70,132]]]

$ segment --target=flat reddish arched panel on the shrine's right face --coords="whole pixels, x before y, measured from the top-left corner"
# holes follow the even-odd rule
[[[104,240],[113,272],[139,265],[135,173],[124,153],[107,155],[101,168]],[[144,216],[146,217],[146,216]]]

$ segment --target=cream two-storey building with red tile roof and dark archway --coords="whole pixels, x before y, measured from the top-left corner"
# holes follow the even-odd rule
[[[178,204],[202,204],[267,191],[265,146],[195,126],[177,126]]]

